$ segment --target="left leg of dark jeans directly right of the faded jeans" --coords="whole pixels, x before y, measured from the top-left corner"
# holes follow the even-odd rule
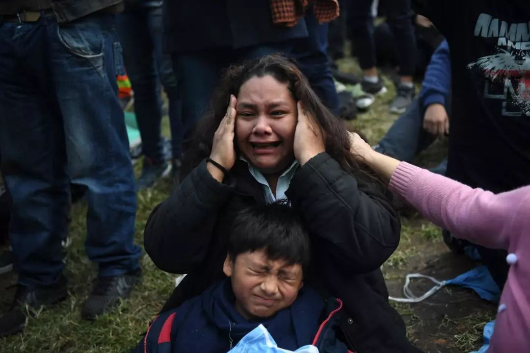
[[[160,128],[162,99],[148,10],[148,8],[140,7],[137,10],[119,14],[117,28],[123,46],[127,75],[133,87],[134,107],[140,138],[142,138],[142,150],[154,164],[161,164],[165,159]]]

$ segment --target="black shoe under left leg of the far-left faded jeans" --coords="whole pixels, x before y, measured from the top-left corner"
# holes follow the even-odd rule
[[[67,280],[64,276],[50,286],[30,288],[17,285],[10,310],[0,316],[0,337],[22,332],[26,326],[26,315],[31,315],[31,310],[39,310],[42,306],[65,300],[67,295]],[[27,306],[30,311],[26,310]]]

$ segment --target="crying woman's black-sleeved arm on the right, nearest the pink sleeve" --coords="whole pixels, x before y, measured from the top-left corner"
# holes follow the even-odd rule
[[[327,252],[346,271],[374,270],[398,247],[398,214],[375,186],[346,173],[328,153],[296,172],[287,196],[312,236],[329,246]]]

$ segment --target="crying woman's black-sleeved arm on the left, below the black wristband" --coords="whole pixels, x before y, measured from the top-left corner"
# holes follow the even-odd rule
[[[164,202],[156,206],[144,232],[153,263],[171,273],[189,273],[204,260],[217,212],[234,187],[217,182],[203,160]]]

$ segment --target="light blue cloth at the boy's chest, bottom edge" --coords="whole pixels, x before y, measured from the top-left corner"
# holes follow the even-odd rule
[[[269,331],[260,324],[245,335],[228,353],[289,353],[291,350],[279,348],[270,336]],[[297,353],[319,353],[315,346],[304,346],[295,350]]]

